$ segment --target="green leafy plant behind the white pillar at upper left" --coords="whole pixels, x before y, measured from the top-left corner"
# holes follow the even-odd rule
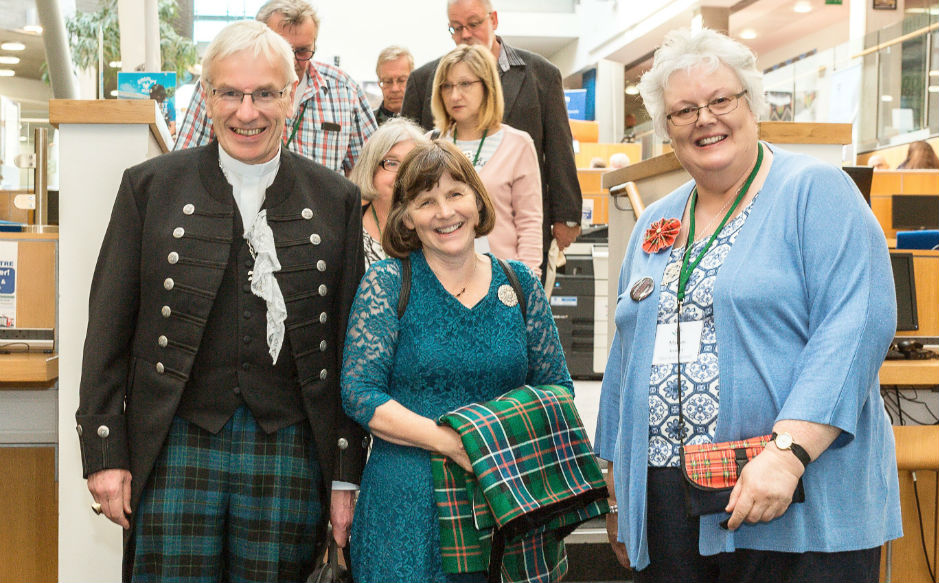
[[[191,39],[180,36],[172,22],[178,15],[176,0],[160,0],[157,8],[160,18],[160,55],[164,71],[176,71],[182,80],[187,69],[196,63],[196,45]],[[121,34],[118,26],[117,0],[103,0],[96,12],[76,12],[66,19],[72,62],[79,69],[98,67],[98,35],[104,53],[105,95],[117,83],[117,70],[108,63],[121,58]],[[102,96],[102,97],[104,97]]]

